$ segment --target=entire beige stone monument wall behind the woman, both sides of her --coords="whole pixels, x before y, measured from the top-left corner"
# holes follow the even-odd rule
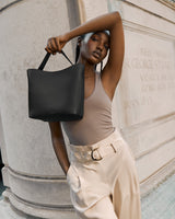
[[[0,148],[4,201],[40,218],[75,218],[48,124],[28,118],[26,69],[48,37],[118,10],[125,31],[113,123],[133,151],[141,195],[175,171],[175,4],[163,0],[0,1]],[[74,43],[65,51],[74,59]],[[61,55],[46,70],[69,66]],[[66,141],[67,136],[65,135]]]

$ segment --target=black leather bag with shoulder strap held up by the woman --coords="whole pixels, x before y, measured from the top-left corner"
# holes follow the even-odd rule
[[[69,60],[67,55],[61,54]],[[84,65],[59,70],[43,70],[47,53],[38,69],[27,69],[28,117],[44,122],[79,120],[84,112]]]

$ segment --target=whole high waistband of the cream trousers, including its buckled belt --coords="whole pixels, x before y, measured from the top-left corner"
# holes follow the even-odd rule
[[[115,127],[115,130],[109,136],[96,143],[86,146],[69,143],[70,160],[80,162],[102,160],[106,154],[110,152],[117,152],[119,150],[119,143],[115,143],[118,140],[124,139],[119,130]]]

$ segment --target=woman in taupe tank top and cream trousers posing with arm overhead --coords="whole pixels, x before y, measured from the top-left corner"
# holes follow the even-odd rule
[[[49,123],[52,145],[70,185],[77,215],[84,219],[140,219],[140,188],[132,152],[112,124],[112,102],[121,76],[124,30],[119,12],[93,19],[48,39],[48,53],[60,53],[78,37],[77,62],[85,66],[84,116],[61,122],[69,138],[70,161],[59,122]],[[102,61],[108,59],[104,68]],[[101,62],[101,72],[96,65]]]

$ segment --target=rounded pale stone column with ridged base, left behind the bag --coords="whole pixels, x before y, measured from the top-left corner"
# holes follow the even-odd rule
[[[74,218],[74,214],[48,123],[28,118],[26,69],[38,68],[49,37],[72,27],[69,19],[79,14],[71,3],[65,0],[0,3],[0,147],[7,186],[3,196],[20,211],[49,219]],[[71,43],[65,51],[74,59]],[[50,56],[45,69],[54,71],[69,65],[57,54]]]

